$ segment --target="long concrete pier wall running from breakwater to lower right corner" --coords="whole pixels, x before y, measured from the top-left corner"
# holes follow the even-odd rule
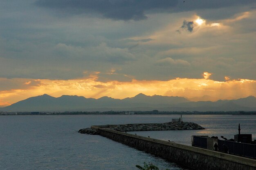
[[[92,126],[99,135],[194,170],[256,170],[256,160]]]

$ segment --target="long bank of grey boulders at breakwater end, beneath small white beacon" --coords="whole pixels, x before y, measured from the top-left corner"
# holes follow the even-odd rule
[[[155,130],[202,130],[202,126],[193,122],[168,122],[168,123],[150,123],[150,124],[125,124],[111,127],[112,130],[120,132],[130,131],[155,131]]]

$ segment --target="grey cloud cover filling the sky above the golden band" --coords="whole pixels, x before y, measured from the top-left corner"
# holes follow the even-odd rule
[[[2,0],[0,77],[67,80],[118,68],[99,80],[200,78],[205,71],[255,79],[255,6],[256,0]],[[195,15],[205,25],[189,25]],[[209,27],[215,22],[220,27]],[[237,62],[216,61],[217,54]]]

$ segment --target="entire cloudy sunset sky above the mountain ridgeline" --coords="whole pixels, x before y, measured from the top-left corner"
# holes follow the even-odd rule
[[[256,1],[0,1],[0,106],[139,93],[256,96]]]

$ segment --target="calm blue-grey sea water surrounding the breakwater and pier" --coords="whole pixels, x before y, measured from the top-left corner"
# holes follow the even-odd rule
[[[138,170],[153,163],[160,170],[185,170],[146,152],[99,135],[77,131],[91,125],[165,123],[180,115],[37,115],[0,116],[0,170]],[[191,145],[192,135],[234,138],[240,123],[242,134],[256,139],[253,115],[182,115],[206,130],[129,132]]]

